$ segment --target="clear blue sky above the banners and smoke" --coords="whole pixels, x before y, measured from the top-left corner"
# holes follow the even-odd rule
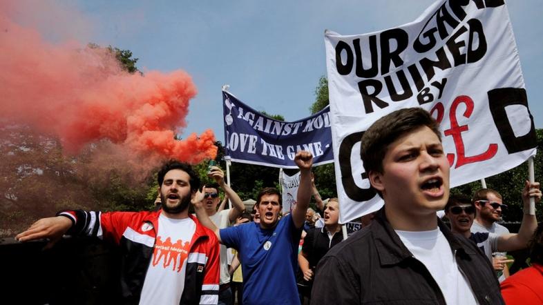
[[[32,1],[30,1],[32,2]],[[198,93],[181,136],[211,128],[224,143],[222,85],[252,108],[287,121],[309,116],[326,75],[324,31],[356,35],[415,20],[432,0],[53,1],[50,41],[75,39],[131,50],[146,72],[184,70]],[[506,1],[528,105],[543,128],[543,1]],[[44,17],[43,22],[51,19]],[[62,35],[59,35],[59,28]]]

